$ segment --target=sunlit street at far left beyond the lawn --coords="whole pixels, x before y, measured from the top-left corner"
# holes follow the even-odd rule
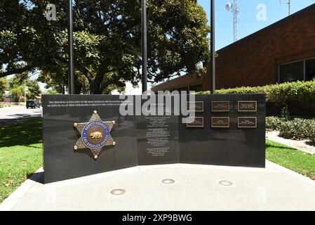
[[[0,108],[0,126],[41,117],[41,110],[42,108],[27,109],[25,106]]]

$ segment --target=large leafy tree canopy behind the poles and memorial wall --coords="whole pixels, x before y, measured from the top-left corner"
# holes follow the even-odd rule
[[[57,21],[43,16],[46,1],[1,1],[0,63],[8,66],[0,77],[39,69],[49,75],[41,77],[48,85],[65,89],[67,1],[50,3],[58,9]],[[197,65],[208,61],[210,29],[197,1],[150,0],[147,8],[149,82],[203,72]],[[91,94],[140,81],[140,43],[139,0],[74,1],[74,68],[86,78]],[[76,92],[82,91],[83,79],[76,77]]]

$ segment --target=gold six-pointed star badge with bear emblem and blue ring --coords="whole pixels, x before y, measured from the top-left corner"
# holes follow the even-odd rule
[[[85,123],[74,123],[74,127],[81,134],[74,150],[90,149],[95,160],[105,146],[115,146],[116,142],[110,135],[116,122],[103,122],[95,110],[91,119]]]

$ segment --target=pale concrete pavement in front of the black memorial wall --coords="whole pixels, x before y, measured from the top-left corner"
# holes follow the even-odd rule
[[[126,193],[112,195],[116,188]],[[163,165],[46,185],[28,180],[0,210],[315,210],[314,199],[315,181],[272,162],[266,169]]]

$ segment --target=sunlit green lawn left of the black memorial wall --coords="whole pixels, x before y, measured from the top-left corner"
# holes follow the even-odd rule
[[[41,120],[0,128],[0,203],[42,166]]]

